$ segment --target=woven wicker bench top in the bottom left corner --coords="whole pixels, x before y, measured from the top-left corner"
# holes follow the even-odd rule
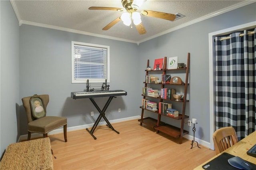
[[[0,169],[53,170],[50,138],[10,144],[0,162]]]

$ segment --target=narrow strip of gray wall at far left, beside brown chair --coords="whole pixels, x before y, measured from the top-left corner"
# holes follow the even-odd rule
[[[0,156],[19,137],[19,24],[10,1],[0,1]]]

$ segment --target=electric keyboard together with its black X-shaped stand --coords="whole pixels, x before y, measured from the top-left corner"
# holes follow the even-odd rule
[[[100,94],[102,93],[102,94]],[[100,123],[100,120],[103,118],[106,123],[107,123],[107,127],[111,128],[112,130],[114,130],[117,134],[119,134],[118,131],[116,131],[114,129],[114,127],[112,127],[112,125],[110,124],[110,122],[108,121],[108,119],[106,118],[106,109],[108,108],[110,102],[112,101],[113,98],[116,98],[116,96],[121,96],[121,95],[127,95],[126,91],[123,90],[111,90],[111,91],[92,91],[92,92],[72,92],[71,93],[71,97],[73,99],[84,99],[84,98],[89,98],[90,101],[92,102],[92,104],[94,105],[94,107],[96,107],[96,109],[99,111],[100,115],[98,116],[98,118],[96,119],[94,125],[92,126],[91,130],[89,130],[88,128],[86,128],[86,130],[92,135],[92,137],[96,140],[97,138],[93,135],[94,130],[96,129],[96,127],[98,126],[98,124]],[[106,101],[106,104],[104,105],[103,109],[101,110],[100,107],[97,105],[97,103],[94,101],[93,97],[108,97],[108,100]]]

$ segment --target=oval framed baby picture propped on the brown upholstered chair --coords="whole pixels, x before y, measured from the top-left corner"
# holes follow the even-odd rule
[[[44,101],[38,95],[31,97],[29,103],[34,118],[40,119],[46,116]]]

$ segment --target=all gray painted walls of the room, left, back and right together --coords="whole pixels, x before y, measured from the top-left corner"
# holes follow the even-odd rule
[[[8,144],[16,142],[18,136],[26,134],[22,97],[49,94],[47,114],[67,117],[68,127],[94,123],[98,111],[90,101],[70,98],[70,92],[85,89],[85,84],[71,83],[71,41],[110,46],[110,89],[124,89],[128,95],[113,99],[107,111],[109,120],[140,115],[147,59],[153,62],[164,56],[178,56],[179,62],[186,63],[190,52],[190,102],[186,111],[190,118],[198,119],[196,137],[210,142],[208,33],[255,21],[256,16],[254,3],[138,46],[36,26],[18,27],[10,2],[0,1],[0,4],[1,154]],[[102,108],[105,98],[96,98],[96,102]],[[121,113],[118,113],[118,108],[122,109]],[[90,111],[94,111],[94,117],[90,116]],[[172,123],[171,119],[164,121]],[[185,126],[185,129],[192,134],[191,127]]]

